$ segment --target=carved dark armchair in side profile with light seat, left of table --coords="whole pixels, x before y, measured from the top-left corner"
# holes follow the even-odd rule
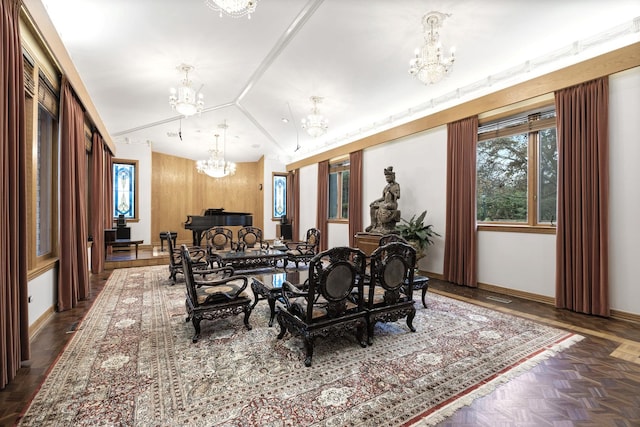
[[[210,269],[207,280],[196,280],[189,249],[182,245],[182,268],[187,287],[185,305],[188,322],[191,320],[195,329],[192,342],[200,339],[200,322],[203,319],[214,320],[244,313],[244,325],[251,330],[251,297],[246,291],[249,279],[247,276],[234,275],[232,267]],[[202,271],[195,271],[201,274]]]

